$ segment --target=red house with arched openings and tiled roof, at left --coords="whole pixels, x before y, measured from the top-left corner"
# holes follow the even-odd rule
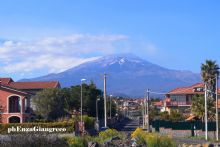
[[[33,112],[32,97],[47,88],[59,88],[59,82],[14,82],[0,78],[0,123],[30,121]]]

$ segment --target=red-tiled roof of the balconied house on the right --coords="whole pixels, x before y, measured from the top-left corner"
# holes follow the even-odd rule
[[[194,88],[204,88],[204,83],[197,83],[188,87],[179,87],[174,90],[171,90],[167,94],[202,94],[203,92],[195,92]],[[218,89],[218,93],[220,93],[220,89]]]

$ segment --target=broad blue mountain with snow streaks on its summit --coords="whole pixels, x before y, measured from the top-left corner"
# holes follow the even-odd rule
[[[103,89],[104,73],[108,75],[108,94],[130,97],[143,96],[147,88],[157,92],[168,92],[178,86],[188,86],[201,81],[199,74],[167,69],[133,54],[100,57],[61,73],[28,79],[28,81],[58,80],[62,87],[69,87],[80,84],[80,79],[86,78],[87,81],[93,81]]]

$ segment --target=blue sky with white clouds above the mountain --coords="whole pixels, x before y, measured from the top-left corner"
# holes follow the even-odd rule
[[[0,76],[60,72],[132,52],[161,66],[200,72],[220,55],[220,2],[201,0],[0,1]]]

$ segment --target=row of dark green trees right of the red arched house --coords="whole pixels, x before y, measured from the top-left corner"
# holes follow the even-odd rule
[[[98,101],[99,117],[104,115],[104,99],[102,90],[98,89],[96,85],[90,84],[82,85],[83,95],[83,114],[91,117],[96,116],[96,100]],[[33,97],[33,104],[35,107],[35,114],[39,118],[46,120],[56,120],[62,117],[70,116],[74,112],[81,110],[81,85],[72,86],[70,88],[53,88],[45,89],[38,92]],[[108,105],[109,106],[109,105]],[[114,103],[112,104],[112,112],[115,112]],[[114,115],[114,114],[113,114]]]

